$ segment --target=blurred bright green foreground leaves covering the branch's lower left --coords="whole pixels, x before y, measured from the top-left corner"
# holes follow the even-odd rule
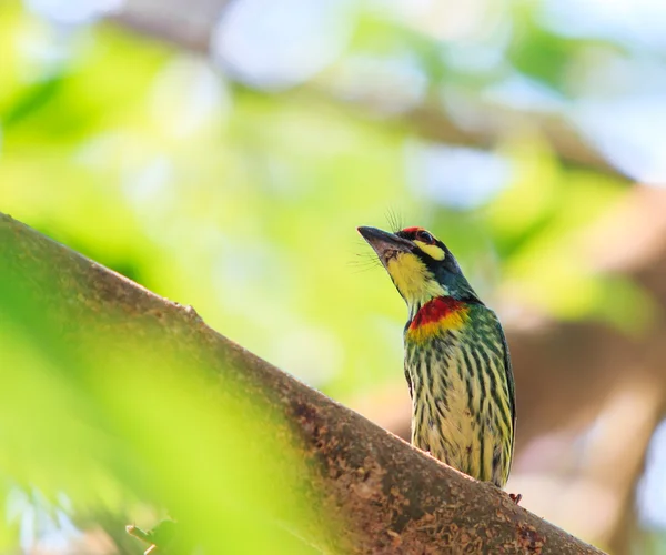
[[[58,532],[75,538],[74,524],[111,522],[121,534],[110,516],[157,523],[152,506],[169,507],[176,534],[208,553],[310,553],[281,524],[303,519],[294,491],[307,474],[275,437],[276,415],[239,398],[230,376],[216,387],[202,357],[149,319],[79,311],[73,321],[68,287],[89,293],[73,280],[44,291],[52,265],[21,246],[0,249],[0,346],[11,369],[0,391],[0,494],[12,523],[0,545],[16,544],[19,527],[28,546]],[[122,543],[138,553],[132,542]]]

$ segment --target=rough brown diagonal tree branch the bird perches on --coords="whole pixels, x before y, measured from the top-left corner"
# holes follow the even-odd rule
[[[311,487],[320,500],[313,507],[315,524],[317,518],[345,523],[334,537],[297,531],[324,552],[601,553],[516,506],[494,486],[438,463],[254,356],[206,326],[193,310],[3,214],[0,255],[3,275],[16,278],[29,269],[22,280],[26,290],[46,312],[77,319],[70,326],[94,315],[103,330],[112,314],[137,336],[147,327],[157,329],[190,360],[213,361],[219,387],[238,389],[234,394],[256,400],[258,410],[280,414],[280,436],[292,443],[311,471]]]

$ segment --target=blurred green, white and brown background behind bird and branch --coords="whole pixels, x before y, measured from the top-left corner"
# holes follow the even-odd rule
[[[430,229],[508,331],[507,490],[618,555],[666,553],[665,129],[659,0],[0,3],[1,211],[403,437],[355,226]],[[164,508],[14,470],[4,553],[139,553]]]

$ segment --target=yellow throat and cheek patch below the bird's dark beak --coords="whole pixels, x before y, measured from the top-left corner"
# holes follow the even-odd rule
[[[418,256],[410,252],[402,252],[390,259],[386,270],[407,304],[423,303],[448,294]]]

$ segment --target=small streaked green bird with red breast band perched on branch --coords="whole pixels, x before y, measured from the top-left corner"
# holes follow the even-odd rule
[[[431,232],[357,228],[404,299],[412,444],[478,481],[506,485],[515,385],[502,324]],[[519,495],[509,494],[519,502]]]

